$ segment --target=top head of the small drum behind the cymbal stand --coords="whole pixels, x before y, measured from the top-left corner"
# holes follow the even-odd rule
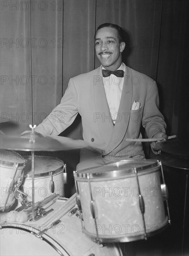
[[[24,177],[32,178],[32,156],[26,157],[26,167],[24,169]],[[34,177],[49,176],[65,169],[64,162],[58,158],[50,156],[34,156]]]

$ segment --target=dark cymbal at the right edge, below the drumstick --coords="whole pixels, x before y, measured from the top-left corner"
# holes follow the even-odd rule
[[[171,155],[169,153],[162,153],[161,155],[155,155],[153,158],[161,161],[164,165],[172,168],[182,169],[183,171],[189,171],[189,158],[181,155]]]

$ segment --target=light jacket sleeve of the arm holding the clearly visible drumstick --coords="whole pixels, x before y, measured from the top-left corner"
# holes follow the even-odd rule
[[[166,123],[159,111],[159,95],[155,81],[152,81],[146,95],[142,125],[145,128],[148,138],[152,138],[158,132],[164,132]]]

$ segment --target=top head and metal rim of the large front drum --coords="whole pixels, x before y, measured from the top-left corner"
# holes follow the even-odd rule
[[[75,174],[75,179],[87,180],[89,178],[120,178],[123,175],[135,175],[134,168],[137,169],[138,175],[143,175],[145,172],[154,172],[159,167],[158,161],[151,160],[121,160],[111,162],[98,167],[79,170]]]

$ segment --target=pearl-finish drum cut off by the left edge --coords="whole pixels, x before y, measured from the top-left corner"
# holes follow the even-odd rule
[[[26,160],[16,152],[0,150],[0,210],[13,205],[25,165]]]

